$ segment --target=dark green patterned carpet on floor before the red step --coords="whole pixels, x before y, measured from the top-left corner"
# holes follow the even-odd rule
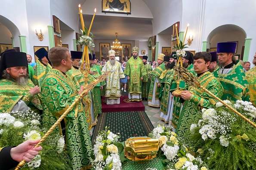
[[[110,127],[110,131],[114,134],[120,132],[120,141],[125,141],[130,137],[148,136],[154,128],[145,111],[102,113],[94,129],[93,144],[98,132],[102,131],[105,126]]]

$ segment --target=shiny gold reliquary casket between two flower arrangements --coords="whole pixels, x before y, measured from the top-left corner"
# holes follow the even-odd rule
[[[124,155],[132,161],[145,161],[157,156],[163,142],[150,137],[132,137],[124,142]]]

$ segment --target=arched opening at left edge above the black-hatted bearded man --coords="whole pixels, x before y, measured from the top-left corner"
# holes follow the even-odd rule
[[[19,51],[19,36],[20,32],[16,25],[0,15],[0,52],[11,48],[16,48]]]

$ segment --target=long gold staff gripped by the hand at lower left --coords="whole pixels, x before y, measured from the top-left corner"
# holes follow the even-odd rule
[[[52,125],[52,127],[49,128],[49,130],[46,132],[46,134],[43,135],[43,137],[40,139],[40,141],[37,143],[35,147],[40,146],[46,140],[46,138],[52,133],[52,131],[59,125],[59,123],[65,118],[65,116],[67,116],[70,110],[72,110],[73,107],[83,98],[83,96],[86,95],[89,92],[89,90],[93,89],[93,87],[96,86],[96,84],[104,81],[105,78],[107,78],[108,74],[109,72],[106,72],[105,74],[99,76],[99,78],[94,80],[92,83],[87,85],[85,87],[85,90],[83,90],[82,94],[77,95],[74,102],[68,107],[68,109],[62,114],[62,116],[59,117],[59,119]],[[19,164],[14,170],[20,170],[25,164],[26,164],[26,161],[22,160],[21,162],[19,162]]]

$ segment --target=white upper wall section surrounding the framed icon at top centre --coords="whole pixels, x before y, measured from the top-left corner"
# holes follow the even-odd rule
[[[136,17],[136,18],[153,18],[150,9],[145,5],[143,0],[130,0],[131,15],[102,13],[102,0],[86,0],[82,5],[83,14],[93,14],[96,8],[96,15]]]

